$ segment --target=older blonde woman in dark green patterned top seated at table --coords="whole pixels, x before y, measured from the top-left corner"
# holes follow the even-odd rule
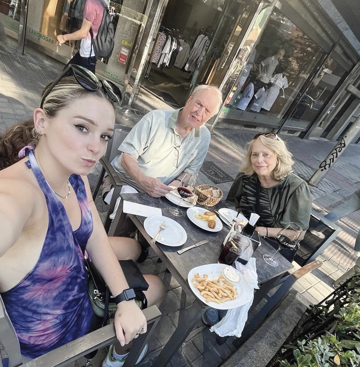
[[[276,237],[289,222],[300,226],[303,235],[309,228],[310,190],[303,179],[292,173],[291,157],[277,134],[255,135],[230,188],[227,201],[245,217],[251,212],[260,215],[256,228],[260,236]]]

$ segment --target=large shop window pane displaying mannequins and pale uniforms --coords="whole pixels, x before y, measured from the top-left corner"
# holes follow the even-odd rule
[[[261,27],[254,26],[252,32],[256,31]],[[257,39],[251,33],[249,36],[242,52],[251,49],[252,40]],[[272,12],[250,53],[227,107],[237,111],[236,119],[276,126],[324,53],[278,10]]]

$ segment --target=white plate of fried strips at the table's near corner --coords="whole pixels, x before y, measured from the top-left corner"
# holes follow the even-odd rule
[[[222,275],[228,265],[207,264],[196,266],[188,274],[188,282],[194,295],[204,304],[218,310],[229,310],[242,306],[251,300],[253,290],[245,278],[231,283]]]

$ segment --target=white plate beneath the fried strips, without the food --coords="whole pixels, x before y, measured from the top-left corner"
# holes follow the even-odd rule
[[[201,302],[204,302],[204,304],[212,308],[216,308],[218,310],[229,310],[230,308],[236,308],[242,306],[250,301],[252,294],[254,293],[251,287],[247,284],[244,276],[241,276],[240,282],[234,283],[234,288],[236,288],[237,292],[239,293],[235,299],[232,299],[231,301],[225,301],[223,303],[216,303],[212,301],[206,302],[205,298],[200,295],[200,290],[195,288],[193,285],[192,279],[194,277],[194,274],[199,273],[200,276],[207,274],[207,280],[218,279],[218,277],[222,275],[222,269],[226,266],[228,265],[223,264],[201,265],[191,269],[188,274],[188,283],[194,295],[196,295],[196,297],[199,298]]]

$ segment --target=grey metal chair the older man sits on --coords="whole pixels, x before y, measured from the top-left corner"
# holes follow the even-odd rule
[[[114,170],[114,167],[110,164],[110,162],[120,154],[118,148],[120,144],[123,142],[123,140],[126,138],[127,134],[131,131],[130,127],[127,126],[121,126],[119,124],[115,124],[114,126],[114,135],[112,139],[108,143],[108,148],[106,149],[105,156],[103,156],[100,159],[100,163],[102,164],[102,169],[98,178],[98,182],[94,188],[94,191],[92,193],[92,199],[95,201],[100,186],[102,185],[102,181],[105,176],[105,172],[108,174],[108,176],[111,179],[112,185],[114,186],[114,192],[113,196],[111,198],[108,211],[106,213],[105,222],[104,222],[104,228],[106,230],[106,233],[108,233],[111,219],[110,214],[114,211],[116,199],[120,195],[121,187],[123,186],[123,183],[120,180],[119,175]]]

